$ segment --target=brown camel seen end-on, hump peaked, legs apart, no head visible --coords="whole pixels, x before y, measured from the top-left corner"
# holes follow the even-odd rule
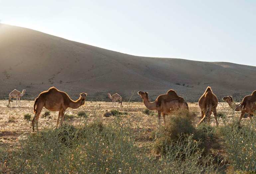
[[[202,123],[205,120],[205,118],[207,119],[209,124],[210,116],[211,116],[211,113],[213,112],[216,125],[218,126],[219,123],[217,120],[217,111],[216,111],[216,107],[218,105],[218,98],[216,97],[216,95],[213,94],[211,87],[206,88],[205,92],[203,93],[203,95],[200,97],[198,101],[198,105],[201,109],[201,116],[202,116],[198,125]]]

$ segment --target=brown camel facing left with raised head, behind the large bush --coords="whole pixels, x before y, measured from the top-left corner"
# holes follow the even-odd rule
[[[178,96],[173,89],[170,89],[166,94],[159,95],[154,102],[149,101],[148,92],[139,91],[138,94],[148,109],[157,110],[158,125],[160,125],[161,113],[163,115],[165,125],[165,115],[171,113],[173,110],[189,109],[188,103],[184,98]]]

